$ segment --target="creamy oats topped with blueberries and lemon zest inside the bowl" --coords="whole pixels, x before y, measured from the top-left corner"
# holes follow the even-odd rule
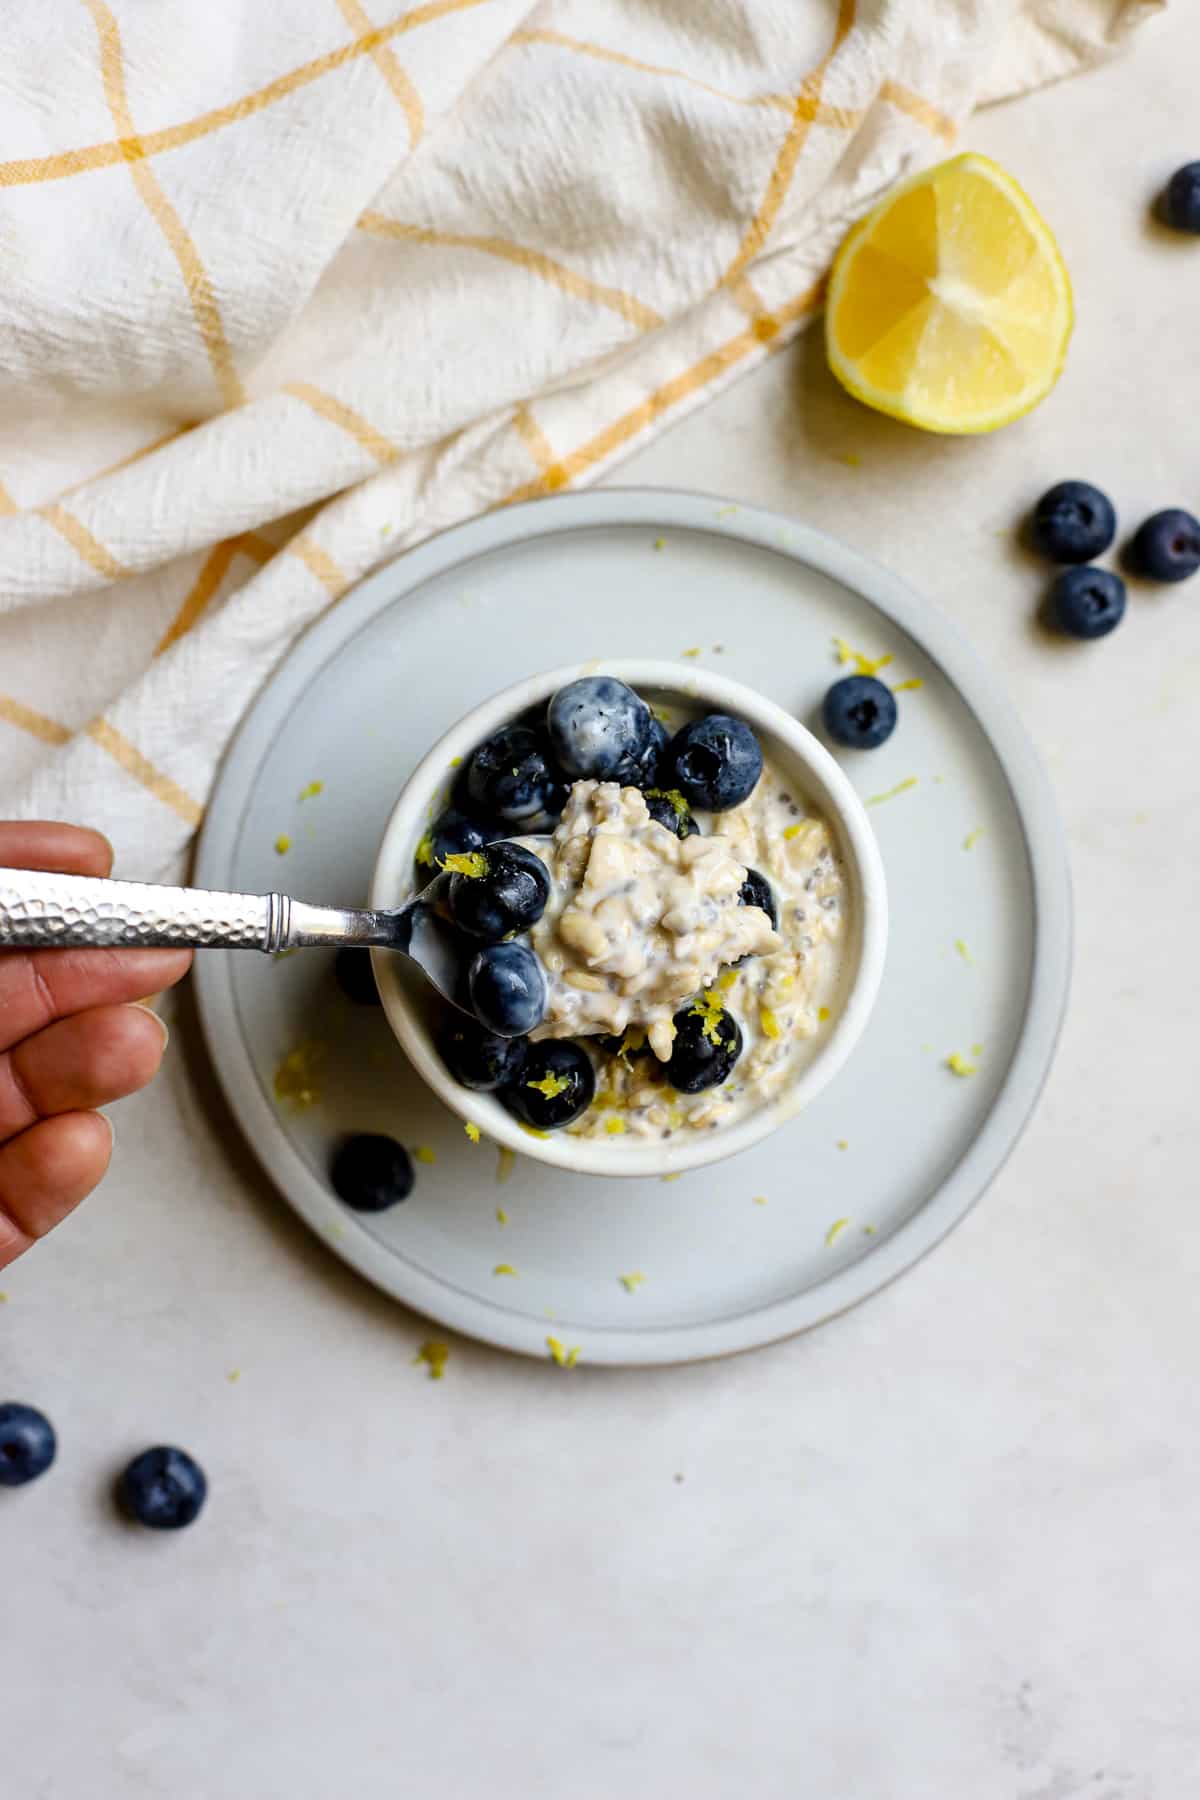
[[[417,848],[475,941],[453,1078],[533,1132],[667,1139],[777,1100],[844,981],[828,823],[750,727],[612,677],[480,743]]]

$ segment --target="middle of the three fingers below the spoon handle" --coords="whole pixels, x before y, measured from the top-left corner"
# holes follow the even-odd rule
[[[144,1006],[58,1019],[0,1057],[0,1141],[54,1112],[90,1112],[158,1073],[167,1028]]]

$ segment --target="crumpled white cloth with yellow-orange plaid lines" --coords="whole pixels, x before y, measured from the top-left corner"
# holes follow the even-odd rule
[[[374,563],[786,344],[846,227],[1159,0],[9,0],[0,815],[178,868]]]

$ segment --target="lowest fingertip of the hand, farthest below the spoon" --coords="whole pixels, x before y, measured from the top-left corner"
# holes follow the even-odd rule
[[[108,1168],[113,1132],[99,1112],[40,1120],[0,1148],[0,1269],[45,1237]]]

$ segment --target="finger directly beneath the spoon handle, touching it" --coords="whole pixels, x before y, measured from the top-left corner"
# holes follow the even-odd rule
[[[191,950],[14,950],[0,956],[0,1051],[88,1006],[162,994]]]

